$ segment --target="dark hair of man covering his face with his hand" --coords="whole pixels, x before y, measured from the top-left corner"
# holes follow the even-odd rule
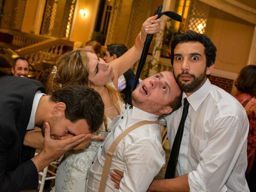
[[[86,120],[91,132],[97,131],[103,122],[104,103],[100,94],[83,85],[72,85],[50,94],[51,102],[66,104],[65,117],[71,122]]]

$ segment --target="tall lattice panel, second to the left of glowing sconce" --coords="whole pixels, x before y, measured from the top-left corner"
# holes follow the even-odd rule
[[[49,36],[52,35],[57,6],[58,6],[58,0],[47,0],[41,34],[49,35]]]

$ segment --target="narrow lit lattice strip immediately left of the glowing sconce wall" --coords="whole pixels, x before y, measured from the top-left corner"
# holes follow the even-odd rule
[[[75,6],[76,6],[76,0],[67,0],[66,1],[64,17],[63,17],[63,21],[62,21],[62,30],[61,30],[62,38],[69,38]]]

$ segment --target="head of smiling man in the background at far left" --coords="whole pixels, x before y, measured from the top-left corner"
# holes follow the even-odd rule
[[[11,70],[13,76],[28,77],[28,60],[24,57],[15,58]]]

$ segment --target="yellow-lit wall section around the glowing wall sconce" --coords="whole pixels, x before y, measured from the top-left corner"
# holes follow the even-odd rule
[[[77,42],[87,42],[90,40],[96,22],[99,0],[78,0],[74,12],[70,40]],[[80,9],[88,9],[89,15],[83,18],[79,13]]]

